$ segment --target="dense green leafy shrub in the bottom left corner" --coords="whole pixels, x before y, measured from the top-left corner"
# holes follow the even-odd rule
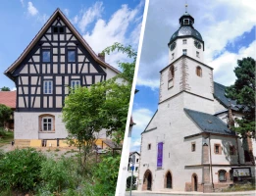
[[[16,149],[0,160],[0,189],[33,190],[45,157],[33,148]]]

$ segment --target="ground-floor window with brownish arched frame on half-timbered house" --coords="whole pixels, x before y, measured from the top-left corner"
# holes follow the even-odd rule
[[[55,117],[53,115],[40,115],[39,116],[39,131],[51,132],[55,131]]]

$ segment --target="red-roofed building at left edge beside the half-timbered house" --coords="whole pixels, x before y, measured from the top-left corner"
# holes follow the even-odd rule
[[[0,104],[3,104],[12,109],[13,113],[8,122],[5,122],[4,127],[9,130],[14,130],[14,111],[16,110],[16,91],[0,91]]]

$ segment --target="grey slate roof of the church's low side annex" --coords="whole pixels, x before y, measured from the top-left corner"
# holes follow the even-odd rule
[[[235,132],[230,130],[227,124],[218,117],[186,108],[184,111],[204,132],[235,135]]]

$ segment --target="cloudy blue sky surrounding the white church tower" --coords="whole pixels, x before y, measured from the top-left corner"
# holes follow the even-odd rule
[[[205,42],[204,63],[214,68],[214,80],[230,85],[235,80],[233,69],[237,59],[256,59],[256,7],[254,0],[187,0],[187,12]],[[140,133],[158,108],[159,76],[168,66],[167,46],[179,29],[185,0],[150,0],[137,74],[132,116],[130,151],[140,149]]]

